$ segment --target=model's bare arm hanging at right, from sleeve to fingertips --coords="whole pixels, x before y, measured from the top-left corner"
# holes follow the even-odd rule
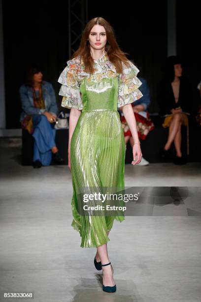
[[[134,117],[133,107],[131,104],[126,104],[125,106],[123,106],[122,111],[124,113],[128,126],[131,130],[132,136],[134,138],[134,147],[133,147],[134,160],[132,161],[132,164],[135,165],[141,161],[142,152],[140,149],[140,142],[137,134],[137,126]],[[137,155],[137,160],[136,160],[136,155]]]

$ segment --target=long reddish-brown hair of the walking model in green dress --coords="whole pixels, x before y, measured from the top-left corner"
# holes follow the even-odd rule
[[[105,45],[105,51],[107,52],[107,57],[111,63],[114,64],[118,73],[122,73],[122,63],[129,67],[127,53],[123,52],[115,38],[114,30],[111,25],[103,18],[97,17],[91,19],[82,34],[79,48],[74,52],[72,59],[77,56],[82,56],[85,71],[88,73],[94,73],[94,60],[90,52],[90,44],[88,41],[90,32],[94,25],[99,24],[104,27],[106,32],[107,43]]]

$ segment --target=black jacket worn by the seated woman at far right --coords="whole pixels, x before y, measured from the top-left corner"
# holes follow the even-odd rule
[[[179,99],[175,103],[171,82],[166,79],[162,80],[158,86],[158,105],[160,108],[159,115],[171,114],[170,110],[181,107],[183,112],[192,113],[193,92],[189,80],[181,76],[179,87]]]

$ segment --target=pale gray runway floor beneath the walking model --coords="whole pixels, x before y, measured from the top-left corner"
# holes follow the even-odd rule
[[[201,301],[200,162],[126,165],[126,186],[191,187],[191,198],[114,222],[108,251],[117,292],[107,294],[95,249],[80,248],[70,226],[67,166],[23,167],[20,147],[19,139],[0,139],[0,301],[32,301],[2,296],[19,291],[34,292],[34,302]]]

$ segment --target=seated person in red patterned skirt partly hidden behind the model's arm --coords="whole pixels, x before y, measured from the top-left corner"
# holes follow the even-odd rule
[[[136,119],[138,137],[141,140],[145,140],[149,131],[154,129],[154,124],[150,119],[149,113],[147,111],[147,108],[150,105],[149,86],[147,84],[147,81],[143,77],[138,76],[138,78],[142,82],[142,85],[139,87],[139,90],[141,91],[143,96],[139,100],[134,101],[134,103],[132,103],[132,107]],[[133,148],[134,139],[132,137],[131,130],[129,129],[124,114],[121,111],[121,108],[120,108],[120,119],[124,130],[125,144],[127,145],[128,141],[130,141],[130,144]],[[148,164],[149,162],[142,157],[141,162],[138,165],[146,166]]]

